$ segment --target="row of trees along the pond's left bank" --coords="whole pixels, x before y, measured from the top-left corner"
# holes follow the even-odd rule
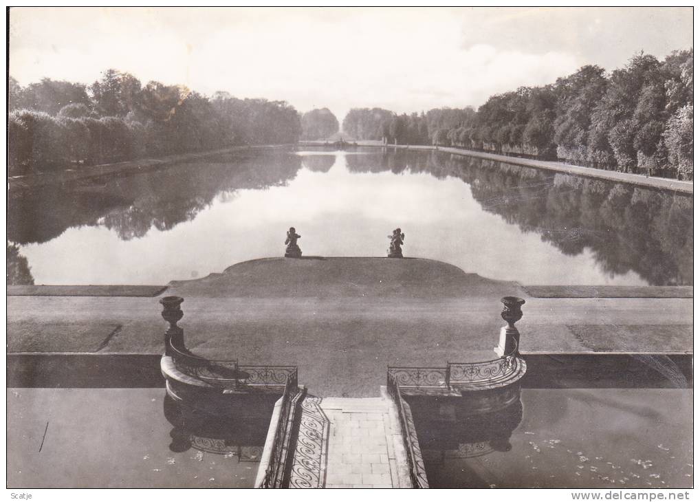
[[[286,102],[204,97],[181,85],[107,70],[89,87],[44,78],[9,85],[11,174],[206,151],[240,144],[286,144],[301,134]]]

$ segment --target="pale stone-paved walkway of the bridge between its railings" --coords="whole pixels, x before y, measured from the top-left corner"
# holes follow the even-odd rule
[[[408,487],[401,441],[388,398],[307,398],[290,487]]]

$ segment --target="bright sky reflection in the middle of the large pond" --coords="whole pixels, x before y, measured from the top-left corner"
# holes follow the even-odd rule
[[[292,225],[305,256],[384,256],[387,235],[400,227],[405,256],[492,279],[645,284],[635,272],[610,277],[589,249],[565,256],[538,233],[487,213],[460,179],[349,172],[345,155],[355,154],[338,153],[328,172],[304,165],[286,186],[221,193],[193,221],[165,232],[151,228],[123,241],[103,226],[73,227],[49,242],[22,246],[22,254],[36,284],[166,284],[241,260],[282,256]]]

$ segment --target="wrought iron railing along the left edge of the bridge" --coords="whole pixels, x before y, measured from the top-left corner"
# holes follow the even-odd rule
[[[295,372],[289,375],[284,386],[279,419],[272,440],[272,452],[269,455],[269,463],[265,469],[265,477],[262,479],[260,488],[285,487],[288,466],[290,466],[293,456],[290,440],[294,424],[294,411],[301,397],[302,393],[299,391]]]

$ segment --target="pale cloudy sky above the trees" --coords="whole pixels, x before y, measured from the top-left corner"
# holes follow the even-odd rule
[[[92,83],[108,68],[299,111],[483,104],[584,64],[692,47],[681,8],[13,8],[10,76]]]

